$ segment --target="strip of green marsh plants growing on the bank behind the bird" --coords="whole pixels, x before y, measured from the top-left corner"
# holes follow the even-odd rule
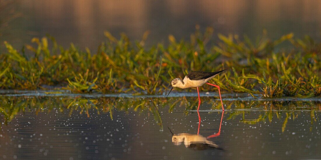
[[[294,39],[288,34],[271,41],[264,31],[252,42],[247,36],[241,40],[219,34],[219,42],[212,45],[213,29],[201,33],[196,27],[190,41],[170,35],[167,46],[152,47],[144,46],[148,32],[134,43],[124,34],[120,39],[109,32],[105,36],[96,53],[73,44],[65,49],[51,36],[33,38],[33,44],[20,51],[4,42],[7,52],[0,54],[0,88],[54,86],[73,92],[160,94],[173,78],[184,78],[190,71],[228,69],[211,80],[222,92],[270,98],[321,95],[321,43],[308,36]],[[291,44],[290,49],[280,48],[281,43]],[[204,85],[204,91],[215,88]]]

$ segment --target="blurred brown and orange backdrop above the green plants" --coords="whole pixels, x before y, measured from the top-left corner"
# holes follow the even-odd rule
[[[149,30],[147,45],[152,45],[166,43],[169,34],[189,39],[195,25],[213,27],[214,39],[232,33],[254,40],[266,29],[271,39],[293,32],[296,38],[320,40],[321,1],[0,0],[2,51],[3,41],[20,49],[46,34],[64,47],[73,42],[96,50],[106,30],[116,37],[124,32],[132,41]]]

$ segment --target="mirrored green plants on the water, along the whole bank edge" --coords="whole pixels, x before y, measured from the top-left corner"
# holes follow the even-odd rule
[[[212,98],[204,97],[204,103],[209,103],[212,109],[220,109],[220,101],[211,100]],[[139,113],[151,113],[155,122],[163,129],[162,119],[160,116],[159,108],[167,108],[169,106],[169,113],[173,111],[175,107],[184,107],[186,111],[195,109],[196,104],[190,104],[186,97],[177,98],[174,100],[165,98],[121,98],[121,97],[108,97],[108,98],[61,98],[61,97],[5,97],[0,98],[0,111],[2,113],[4,123],[10,122],[14,116],[18,113],[35,112],[37,115],[39,112],[50,112],[56,109],[60,112],[69,112],[69,116],[74,112],[79,114],[86,114],[90,117],[91,112],[97,114],[109,113],[110,118],[113,119],[115,109],[118,111],[124,111],[127,114],[130,110]],[[180,102],[180,103],[179,103]],[[197,103],[197,102],[196,102]],[[241,122],[245,124],[256,124],[262,121],[268,120],[272,122],[273,115],[277,119],[281,120],[281,113],[285,112],[286,117],[283,120],[282,131],[285,130],[286,124],[289,119],[294,120],[299,117],[301,112],[298,110],[309,109],[311,117],[311,125],[317,121],[318,117],[315,115],[315,111],[321,110],[321,103],[317,101],[224,101],[227,110],[233,106],[233,111],[230,112],[230,116],[227,120],[241,118]],[[46,106],[46,107],[44,107]],[[194,107],[193,107],[194,106]],[[310,108],[302,108],[303,106],[311,106]],[[251,114],[251,109],[261,107],[258,117],[256,119],[246,119],[247,114]],[[187,114],[188,112],[185,112]],[[310,128],[311,129],[311,128]]]

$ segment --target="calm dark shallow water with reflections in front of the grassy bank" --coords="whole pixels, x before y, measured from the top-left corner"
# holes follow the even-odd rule
[[[222,112],[217,95],[203,93],[199,126],[195,94],[169,98],[1,94],[1,159],[321,157],[318,98],[262,100],[223,95],[226,110]],[[211,135],[216,137],[207,139],[207,144],[211,141],[220,149],[191,143],[193,136],[206,140]]]

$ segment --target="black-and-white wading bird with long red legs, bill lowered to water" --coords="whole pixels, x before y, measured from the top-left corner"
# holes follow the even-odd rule
[[[221,98],[220,86],[215,85],[215,84],[210,84],[207,81],[209,81],[211,78],[213,78],[214,76],[218,75],[219,73],[221,73],[225,70],[226,69],[221,70],[221,71],[217,71],[217,72],[194,71],[194,72],[187,74],[183,80],[181,80],[180,78],[175,78],[172,80],[172,89],[170,89],[169,93],[173,90],[174,87],[183,88],[183,89],[190,88],[190,87],[196,87],[197,94],[198,94],[198,108],[197,108],[197,111],[198,111],[200,108],[200,105],[201,105],[201,98],[200,98],[198,87],[202,86],[203,84],[206,83],[206,84],[212,85],[214,87],[217,87],[219,89],[222,110],[224,110],[223,102],[222,102],[222,98]],[[168,95],[169,95],[169,93],[168,93]]]

